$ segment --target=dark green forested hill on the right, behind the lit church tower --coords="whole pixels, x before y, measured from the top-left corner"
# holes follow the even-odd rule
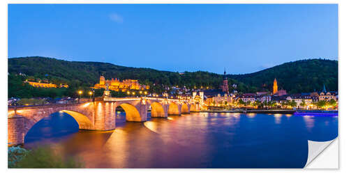
[[[289,93],[312,92],[322,90],[338,90],[338,61],[325,59],[308,59],[276,65],[272,68],[251,74],[229,75],[248,86],[272,89],[274,78],[279,89]]]

